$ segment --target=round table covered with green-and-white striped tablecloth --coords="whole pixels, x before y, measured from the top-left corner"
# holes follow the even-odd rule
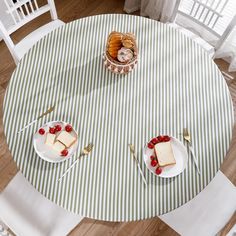
[[[113,30],[137,37],[139,61],[127,75],[112,74],[102,62]],[[17,134],[54,104],[54,112]],[[94,143],[61,182],[57,179],[79,152],[53,164],[37,156],[32,144],[33,133],[52,120],[73,125],[79,150]],[[109,221],[157,216],[196,196],[218,171],[232,126],[230,94],[208,54],[176,29],[130,15],[83,18],[44,37],[14,71],[4,104],[9,149],[30,183],[69,211]],[[201,175],[189,156],[182,174],[154,176],[143,162],[145,143],[159,134],[184,142],[184,127]],[[147,187],[129,143],[136,147]]]

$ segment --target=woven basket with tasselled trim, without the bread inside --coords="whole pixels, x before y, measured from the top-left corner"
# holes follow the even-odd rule
[[[130,34],[130,33],[127,33],[127,34],[119,33],[122,36],[126,36],[126,35],[131,36],[133,38],[133,44],[134,44],[134,47],[132,48],[133,53],[134,53],[134,57],[128,63],[122,63],[122,62],[112,58],[110,56],[109,52],[108,52],[110,38],[111,38],[111,35],[113,33],[119,33],[119,32],[113,31],[108,36],[107,43],[106,43],[106,51],[105,51],[105,53],[103,55],[104,65],[106,66],[106,68],[108,70],[110,70],[113,73],[127,74],[130,71],[132,71],[134,69],[135,65],[138,63],[138,48],[137,48],[135,36],[133,34]]]

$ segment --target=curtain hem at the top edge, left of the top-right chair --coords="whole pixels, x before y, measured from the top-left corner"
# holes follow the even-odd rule
[[[176,0],[126,0],[124,10],[131,13],[140,10],[141,16],[162,22],[169,21]]]

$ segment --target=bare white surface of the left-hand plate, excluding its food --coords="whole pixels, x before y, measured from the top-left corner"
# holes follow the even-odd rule
[[[40,127],[45,130],[44,135],[39,134],[38,130],[40,128],[36,131],[36,133],[33,136],[34,149],[35,149],[36,153],[43,160],[49,161],[49,162],[54,162],[54,163],[61,162],[61,161],[67,160],[75,153],[75,151],[77,150],[77,147],[78,147],[78,138],[77,138],[77,141],[70,148],[67,149],[68,155],[65,157],[61,156],[59,153],[55,152],[50,146],[45,144],[46,133],[49,132],[49,127],[54,127],[55,125],[61,125],[62,130],[65,130],[65,126],[67,124],[68,123],[63,122],[63,121],[51,121],[51,122],[48,122],[45,125]],[[78,137],[78,135],[74,129],[70,132],[70,134],[75,137]]]

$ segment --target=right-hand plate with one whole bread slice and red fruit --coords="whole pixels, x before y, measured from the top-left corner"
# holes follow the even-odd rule
[[[144,162],[155,175],[171,178],[181,174],[188,163],[188,153],[177,138],[159,135],[144,148]]]

